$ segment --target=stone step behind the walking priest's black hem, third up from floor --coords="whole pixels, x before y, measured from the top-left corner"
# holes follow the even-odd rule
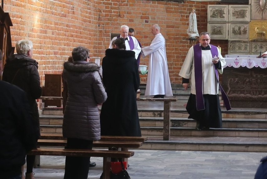
[[[163,127],[163,117],[139,117],[140,126]],[[62,125],[63,115],[40,115],[40,124]],[[171,127],[195,127],[196,121],[185,117],[171,117]],[[223,118],[223,128],[267,128],[267,119]]]

